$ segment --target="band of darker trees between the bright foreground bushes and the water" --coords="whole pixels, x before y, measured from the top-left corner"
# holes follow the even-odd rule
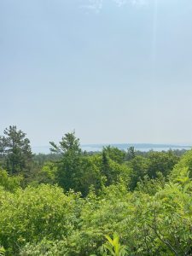
[[[102,184],[123,180],[127,189],[135,189],[144,179],[160,173],[168,177],[179,160],[179,151],[140,152],[134,147],[127,151],[107,146],[102,152],[89,154],[80,148],[75,132],[68,132],[56,145],[50,142],[51,154],[32,154],[26,133],[9,126],[0,137],[0,165],[9,175],[20,175],[23,184],[59,184],[65,191],[73,189],[87,195],[90,186],[96,190]],[[183,151],[181,152],[183,154]]]

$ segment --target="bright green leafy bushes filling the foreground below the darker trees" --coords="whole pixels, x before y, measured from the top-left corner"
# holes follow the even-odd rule
[[[0,244],[8,255],[20,251],[21,255],[85,256],[99,254],[104,235],[117,232],[128,255],[190,255],[190,178],[158,183],[152,192],[128,192],[124,183],[103,187],[100,195],[92,188],[84,199],[49,185],[15,194],[0,190]],[[117,248],[113,245],[113,253]]]

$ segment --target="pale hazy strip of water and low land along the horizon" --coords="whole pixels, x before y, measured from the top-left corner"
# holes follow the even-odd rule
[[[183,145],[172,145],[172,144],[150,144],[150,143],[122,143],[122,144],[83,144],[81,145],[82,150],[86,150],[88,152],[96,152],[102,151],[103,147],[107,146],[116,147],[121,150],[126,150],[127,148],[134,147],[136,150],[147,152],[149,150],[154,151],[167,151],[169,149],[186,149],[189,150],[191,146],[183,146]],[[43,153],[49,154],[49,146],[39,146],[39,147],[32,147],[32,152],[35,154]]]

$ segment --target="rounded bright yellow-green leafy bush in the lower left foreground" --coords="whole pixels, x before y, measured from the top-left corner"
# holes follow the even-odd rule
[[[15,194],[1,193],[0,243],[17,253],[27,242],[69,236],[78,221],[78,198],[49,185],[19,189]]]

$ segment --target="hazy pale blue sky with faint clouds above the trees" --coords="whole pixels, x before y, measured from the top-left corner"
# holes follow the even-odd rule
[[[192,1],[0,0],[0,135],[192,144]]]

